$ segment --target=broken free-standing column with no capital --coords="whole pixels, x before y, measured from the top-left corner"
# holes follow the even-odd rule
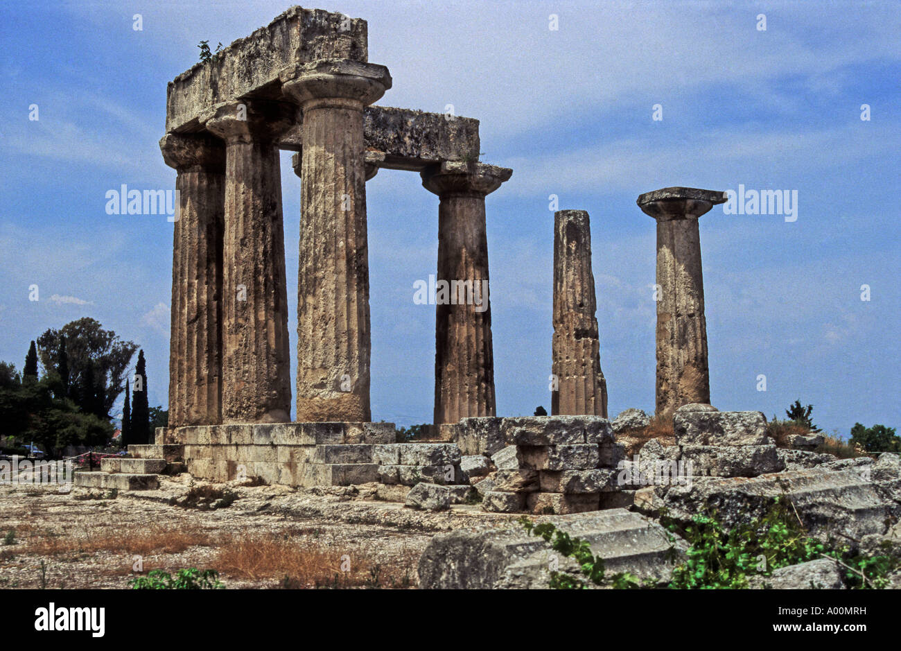
[[[585,210],[554,213],[554,334],[551,415],[607,417],[607,382],[597,335],[591,229]]]

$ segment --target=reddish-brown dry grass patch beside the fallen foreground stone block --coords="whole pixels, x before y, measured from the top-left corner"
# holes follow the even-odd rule
[[[242,579],[279,579],[285,588],[406,588],[413,586],[417,559],[394,558],[386,567],[359,552],[315,541],[250,534],[224,539],[212,567]]]

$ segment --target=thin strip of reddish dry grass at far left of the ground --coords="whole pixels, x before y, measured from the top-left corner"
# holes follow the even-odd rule
[[[101,551],[150,555],[178,554],[193,546],[212,545],[209,534],[198,528],[142,527],[128,530],[87,531],[86,536],[51,531],[35,532],[25,550],[37,555],[90,554]]]

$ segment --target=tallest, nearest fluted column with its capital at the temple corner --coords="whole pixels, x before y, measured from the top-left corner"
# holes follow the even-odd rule
[[[284,70],[300,103],[300,270],[297,279],[297,420],[369,421],[369,251],[363,107],[387,68],[321,60]]]

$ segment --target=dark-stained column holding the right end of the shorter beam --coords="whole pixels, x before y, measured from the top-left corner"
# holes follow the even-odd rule
[[[435,425],[495,416],[485,197],[513,170],[452,161],[422,172],[438,205]]]

